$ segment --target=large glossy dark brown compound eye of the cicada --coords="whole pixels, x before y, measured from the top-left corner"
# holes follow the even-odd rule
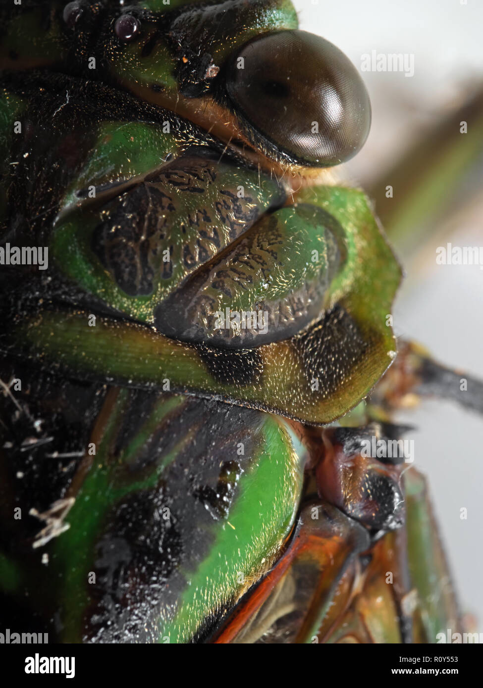
[[[249,125],[302,164],[345,162],[369,133],[371,105],[356,67],[305,31],[245,43],[227,68],[226,87]]]

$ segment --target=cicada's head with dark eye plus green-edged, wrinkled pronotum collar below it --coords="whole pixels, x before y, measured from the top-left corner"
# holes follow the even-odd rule
[[[306,422],[356,405],[394,355],[400,269],[364,195],[321,185],[369,131],[347,57],[286,0],[57,2],[29,57],[52,68],[21,88],[12,36],[8,213],[52,270],[12,287],[8,346]]]

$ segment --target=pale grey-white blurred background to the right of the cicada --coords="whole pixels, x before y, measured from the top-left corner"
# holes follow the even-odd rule
[[[359,70],[362,54],[372,50],[414,55],[411,78],[396,72],[361,72],[373,121],[364,149],[342,169],[351,184],[367,188],[424,126],[462,105],[481,87],[483,0],[294,4],[300,28],[335,43]],[[404,261],[407,277],[395,303],[394,324],[398,336],[419,341],[442,363],[483,379],[483,270],[435,263],[435,248],[446,241],[483,246],[483,174],[475,181],[480,191],[471,202],[449,215],[447,226],[435,228],[435,235]],[[444,241],[440,230],[446,232]],[[433,400],[400,419],[418,426],[411,435],[415,465],[429,477],[462,611],[475,614],[476,630],[482,632],[483,419]],[[462,507],[468,509],[467,520],[460,519]]]

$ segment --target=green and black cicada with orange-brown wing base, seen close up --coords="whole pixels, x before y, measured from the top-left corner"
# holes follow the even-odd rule
[[[0,10],[3,627],[60,643],[461,628],[393,409],[357,69],[289,0]]]

